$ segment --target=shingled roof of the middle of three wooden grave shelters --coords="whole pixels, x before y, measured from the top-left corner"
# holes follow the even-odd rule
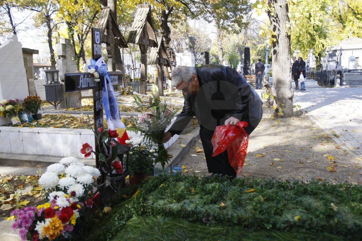
[[[143,31],[146,31],[147,38],[142,36]],[[144,44],[150,47],[157,47],[156,33],[155,27],[153,27],[150,5],[138,5],[136,17],[132,23],[127,43]]]

